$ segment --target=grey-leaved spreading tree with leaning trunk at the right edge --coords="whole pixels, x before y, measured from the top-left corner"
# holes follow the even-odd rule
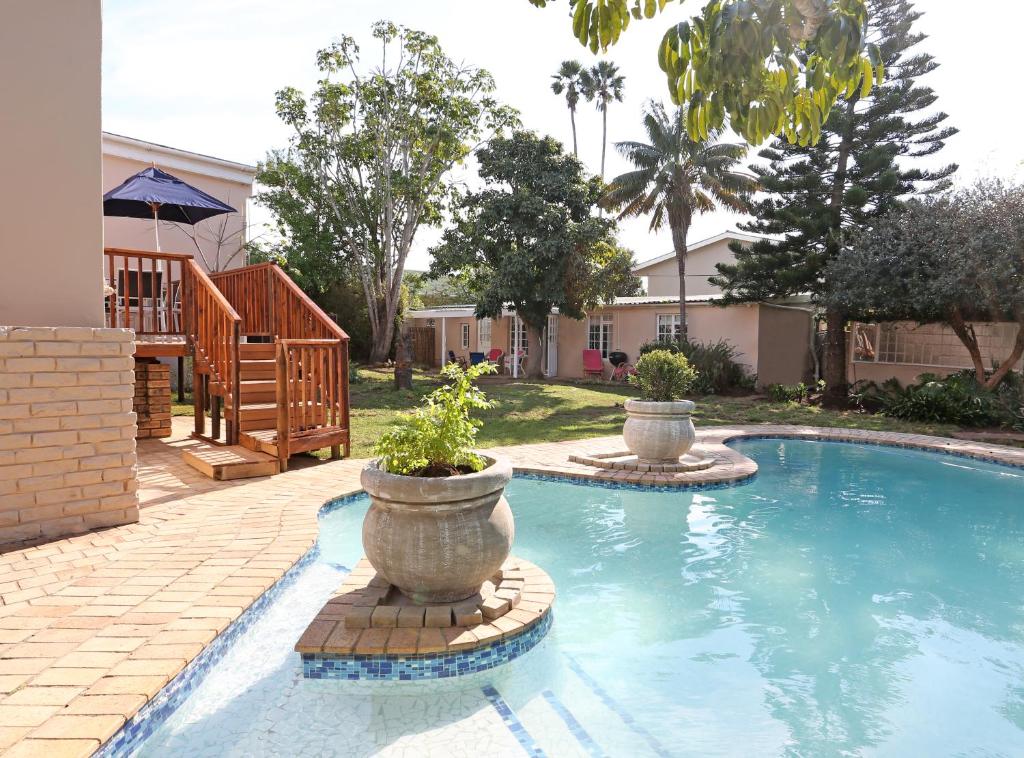
[[[1024,186],[989,180],[891,210],[850,236],[827,279],[826,302],[853,317],[948,325],[992,389],[1024,355]],[[1016,322],[997,367],[985,366],[974,321]]]

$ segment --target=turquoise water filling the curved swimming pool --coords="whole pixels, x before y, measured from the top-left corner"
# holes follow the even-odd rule
[[[758,439],[738,487],[516,478],[558,598],[507,666],[312,681],[295,640],[361,555],[321,553],[142,746],[153,756],[1024,755],[1024,470]]]

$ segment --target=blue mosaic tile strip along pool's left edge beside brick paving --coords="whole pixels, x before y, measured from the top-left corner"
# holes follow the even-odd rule
[[[362,493],[345,495],[329,501],[318,513],[326,513],[348,505],[364,498]],[[124,726],[106,743],[100,746],[93,755],[98,758],[121,758],[138,750],[142,743],[170,718],[200,685],[206,675],[224,657],[230,646],[245,634],[266,613],[271,603],[282,592],[291,587],[299,576],[319,556],[319,546],[314,544],[305,555],[299,558],[269,589],[260,595],[221,632],[191,663],[185,666],[170,683],[164,686],[157,696],[139,709],[138,713],[125,722]]]

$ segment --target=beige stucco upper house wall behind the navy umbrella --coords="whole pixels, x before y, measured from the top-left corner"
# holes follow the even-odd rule
[[[245,264],[245,255],[240,252],[246,242],[246,206],[252,197],[252,182],[234,181],[232,179],[210,176],[195,171],[187,171],[174,165],[166,165],[159,153],[154,153],[152,160],[157,167],[177,176],[227,203],[238,210],[238,213],[227,213],[222,216],[200,221],[194,229],[199,237],[204,255],[200,255],[195,243],[181,226],[174,223],[160,224],[160,248],[165,253],[187,253],[208,270],[224,270],[237,268]],[[148,161],[135,160],[103,154],[103,192],[113,190],[132,174],[147,168]],[[216,167],[211,166],[215,171]],[[141,218],[104,217],[103,229],[105,245],[111,248],[128,248],[130,250],[155,250],[153,221]],[[218,244],[219,243],[219,244]],[[218,255],[219,248],[219,255]]]

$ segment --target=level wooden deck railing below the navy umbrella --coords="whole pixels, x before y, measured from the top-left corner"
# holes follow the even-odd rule
[[[190,255],[106,248],[103,271],[106,326],[133,329],[139,337],[184,339],[188,302],[185,268]],[[141,340],[145,341],[145,340]]]

